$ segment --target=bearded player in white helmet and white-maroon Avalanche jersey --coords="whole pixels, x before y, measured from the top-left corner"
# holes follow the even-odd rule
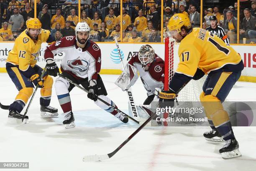
[[[61,61],[62,75],[74,83],[81,84],[89,91],[87,97],[95,101],[95,104],[105,111],[119,118],[123,123],[128,122],[128,118],[122,113],[114,111],[113,108],[97,100],[97,96],[102,100],[115,106],[115,103],[107,97],[107,91],[100,75],[101,51],[99,46],[88,40],[90,37],[90,27],[87,23],[78,23],[75,28],[76,36],[67,36],[47,47],[44,58],[47,62],[47,72],[49,75],[57,76],[59,68],[53,62],[54,55],[61,51],[65,53]],[[55,90],[59,99],[60,106],[65,114],[63,124],[66,128],[72,128],[74,124],[74,115],[72,113],[71,100],[69,92],[74,85],[69,84],[64,78],[57,78]]]

